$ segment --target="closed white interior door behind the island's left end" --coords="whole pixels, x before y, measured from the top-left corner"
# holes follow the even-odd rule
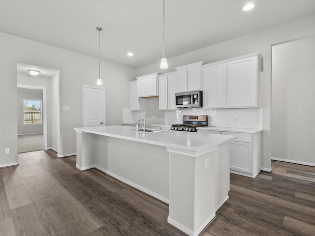
[[[83,85],[83,127],[105,124],[105,88]]]

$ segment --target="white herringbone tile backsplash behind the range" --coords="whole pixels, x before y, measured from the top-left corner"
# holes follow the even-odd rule
[[[183,123],[183,115],[207,115],[209,126],[262,129],[262,108],[187,108],[165,111],[165,124]]]

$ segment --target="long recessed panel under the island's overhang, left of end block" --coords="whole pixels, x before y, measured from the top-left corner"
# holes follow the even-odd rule
[[[168,203],[169,154],[165,147],[97,135],[95,167]]]

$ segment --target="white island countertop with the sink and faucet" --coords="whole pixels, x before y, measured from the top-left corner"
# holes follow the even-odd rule
[[[160,131],[143,132],[130,126],[95,126],[74,128],[76,132],[92,133],[140,143],[176,148],[191,152],[201,152],[236,139],[232,135],[218,135],[201,132]]]

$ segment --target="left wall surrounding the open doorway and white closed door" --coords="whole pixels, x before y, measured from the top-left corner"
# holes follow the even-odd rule
[[[17,163],[16,64],[25,63],[60,71],[61,156],[76,152],[74,127],[82,126],[82,85],[96,85],[98,59],[0,32],[0,101],[7,116],[0,116],[0,167]],[[101,78],[106,88],[106,125],[122,124],[123,108],[129,107],[129,81],[135,69],[101,60]],[[63,112],[63,106],[70,106]],[[10,148],[9,154],[4,149]]]

